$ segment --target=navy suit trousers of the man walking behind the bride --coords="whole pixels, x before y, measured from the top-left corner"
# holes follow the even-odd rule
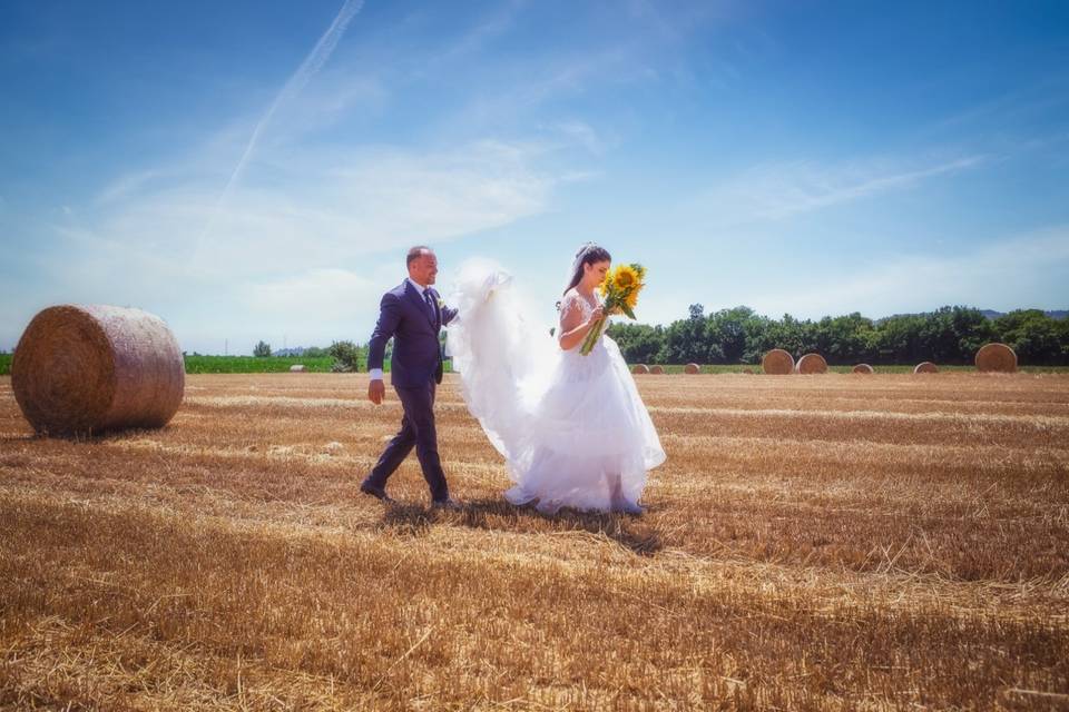
[[[428,378],[426,385],[414,388],[394,386],[401,407],[404,409],[401,429],[379,457],[379,462],[364,481],[366,484],[384,487],[386,479],[409,456],[414,446],[415,456],[420,461],[420,467],[423,468],[423,478],[431,488],[431,498],[434,502],[449,498],[449,485],[438,455],[438,431],[434,426],[435,389],[437,384],[433,378]]]

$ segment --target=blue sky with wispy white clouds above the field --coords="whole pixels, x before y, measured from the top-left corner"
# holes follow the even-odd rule
[[[58,303],[183,348],[366,340],[412,244],[553,318],[1069,307],[1065,2],[0,6],[0,348]]]

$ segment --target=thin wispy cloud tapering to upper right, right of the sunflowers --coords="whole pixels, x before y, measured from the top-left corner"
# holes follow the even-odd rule
[[[715,216],[714,221],[722,225],[778,220],[912,188],[932,178],[975,169],[990,158],[978,154],[913,164],[900,159],[835,165],[812,161],[764,164],[717,185],[705,192],[699,202]]]

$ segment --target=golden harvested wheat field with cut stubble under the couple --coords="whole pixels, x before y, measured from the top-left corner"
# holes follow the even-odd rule
[[[1069,377],[638,385],[647,514],[547,518],[455,376],[442,513],[414,457],[359,493],[400,418],[364,375],[192,376],[81,442],[0,379],[0,706],[1069,704]]]

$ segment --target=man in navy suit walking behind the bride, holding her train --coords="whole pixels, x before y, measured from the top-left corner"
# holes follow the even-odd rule
[[[442,382],[442,350],[438,334],[457,316],[431,287],[438,275],[438,258],[425,246],[409,250],[409,278],[382,296],[379,323],[367,345],[367,369],[371,383],[367,398],[379,405],[386,394],[382,379],[382,362],[386,342],[393,338],[390,360],[393,388],[401,399],[404,417],[401,431],[390,441],[360,491],[384,502],[386,479],[415,447],[423,477],[431,488],[433,506],[458,508],[449,496],[449,485],[438,456],[438,432],[434,428],[434,390]]]

